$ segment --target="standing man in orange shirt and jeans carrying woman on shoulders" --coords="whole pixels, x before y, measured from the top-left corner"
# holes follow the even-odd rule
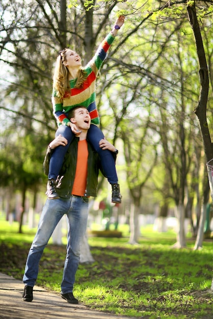
[[[77,126],[81,133],[70,144],[56,180],[59,198],[47,199],[42,209],[23,275],[25,288],[22,298],[28,302],[33,300],[33,286],[38,276],[38,264],[43,250],[56,225],[66,214],[68,225],[67,254],[61,282],[61,297],[68,303],[78,304],[78,300],[73,296],[73,286],[87,226],[88,198],[97,196],[98,174],[101,166],[98,153],[86,140],[90,127],[90,116],[87,109],[84,107],[73,109],[70,121]],[[45,173],[48,173],[49,161],[54,148],[58,145],[66,145],[66,143],[64,137],[58,136],[49,144],[43,164]],[[116,149],[107,140],[101,140],[100,147],[112,151],[114,158],[116,158]]]

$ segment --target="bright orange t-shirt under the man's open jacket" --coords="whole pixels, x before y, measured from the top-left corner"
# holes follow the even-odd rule
[[[87,141],[82,140],[78,142],[76,175],[74,179],[72,195],[84,196],[85,194],[87,181],[87,160]]]

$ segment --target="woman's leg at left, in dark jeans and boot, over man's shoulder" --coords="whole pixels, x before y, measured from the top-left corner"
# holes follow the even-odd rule
[[[58,194],[56,192],[55,188],[55,181],[57,179],[57,176],[59,175],[59,172],[61,170],[64,156],[66,154],[66,151],[72,142],[74,138],[74,134],[69,126],[66,125],[60,125],[59,128],[56,131],[56,137],[62,135],[67,139],[67,145],[59,145],[56,147],[51,155],[50,158],[50,166],[49,166],[49,190],[48,190],[48,198],[49,199],[56,199],[58,198]]]

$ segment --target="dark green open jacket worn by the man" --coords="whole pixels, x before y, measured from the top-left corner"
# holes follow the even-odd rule
[[[69,145],[69,148],[64,156],[64,161],[62,169],[56,180],[57,193],[60,197],[70,198],[73,189],[74,178],[76,174],[76,164],[77,164],[77,151],[78,151],[78,141],[79,138],[75,138],[73,142]],[[87,141],[88,142],[88,141]],[[98,153],[94,151],[90,143],[88,145],[88,168],[87,168],[87,184],[86,191],[84,196],[97,196],[98,188],[98,175],[99,169],[105,176],[102,167],[101,161]],[[53,150],[46,151],[46,155],[43,162],[43,170],[46,175],[49,173],[49,163],[51,154]],[[116,155],[113,153],[114,158]],[[105,176],[106,177],[106,176]]]

